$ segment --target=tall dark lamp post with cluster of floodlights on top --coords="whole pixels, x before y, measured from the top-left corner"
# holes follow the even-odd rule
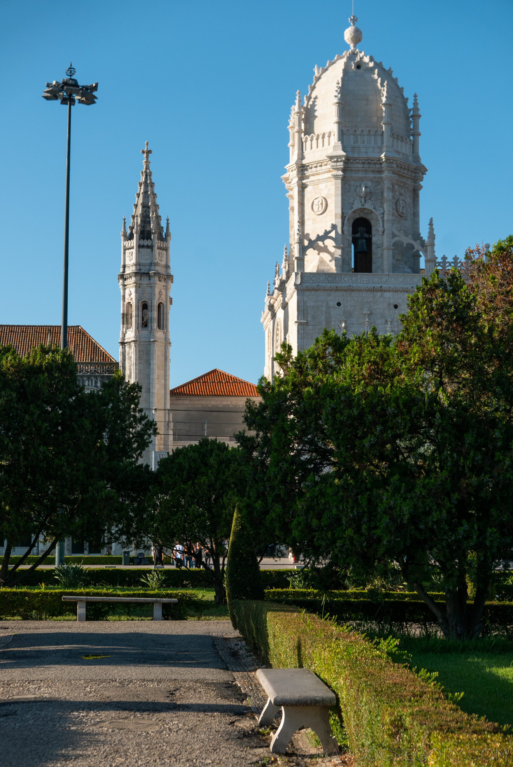
[[[59,100],[61,104],[67,104],[67,149],[66,149],[66,202],[64,205],[64,265],[62,270],[62,324],[61,324],[61,349],[67,347],[67,262],[70,239],[70,146],[71,146],[71,107],[75,101],[79,104],[95,104],[97,97],[94,95],[98,84],[79,85],[74,79],[76,70],[69,65],[66,70],[67,77],[61,82],[54,80],[47,83],[41,94],[48,101]]]

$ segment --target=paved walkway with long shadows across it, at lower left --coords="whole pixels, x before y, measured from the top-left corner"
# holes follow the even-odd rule
[[[265,764],[254,659],[223,634],[229,621],[0,621],[2,765]]]

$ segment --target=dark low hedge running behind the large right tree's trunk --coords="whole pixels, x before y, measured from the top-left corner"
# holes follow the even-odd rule
[[[304,597],[315,594],[315,597]],[[274,589],[265,592],[265,599],[300,607],[308,612],[330,615],[342,623],[347,621],[377,621],[383,623],[436,624],[436,616],[417,594],[384,592],[380,599],[366,598],[362,591],[331,591],[323,599],[319,592],[305,589]],[[436,602],[445,604],[443,594],[431,594]],[[417,597],[417,598],[415,598]],[[469,603],[471,604],[471,603]],[[485,604],[483,622],[490,626],[513,626],[513,602],[490,601]]]

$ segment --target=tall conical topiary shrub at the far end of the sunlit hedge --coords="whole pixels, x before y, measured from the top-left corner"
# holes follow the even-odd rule
[[[235,507],[232,533],[226,563],[226,597],[232,626],[237,628],[232,610],[234,599],[263,599],[264,587],[260,578],[260,568],[255,553],[251,533],[245,520]]]

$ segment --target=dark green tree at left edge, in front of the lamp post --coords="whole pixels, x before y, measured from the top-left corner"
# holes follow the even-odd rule
[[[0,585],[22,581],[65,535],[105,537],[126,524],[148,492],[149,472],[137,461],[155,433],[139,396],[120,373],[84,393],[68,350],[41,345],[21,358],[0,349]],[[26,535],[31,546],[9,570],[12,544]],[[50,547],[19,570],[41,535]]]

